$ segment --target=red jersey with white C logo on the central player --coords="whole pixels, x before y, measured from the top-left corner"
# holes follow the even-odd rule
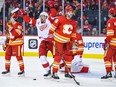
[[[53,22],[49,34],[54,33],[54,40],[60,43],[67,43],[76,37],[77,23],[68,20],[65,16],[59,16]]]

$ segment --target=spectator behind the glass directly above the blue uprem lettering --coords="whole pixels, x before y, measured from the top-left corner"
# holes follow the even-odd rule
[[[83,25],[83,35],[90,36],[90,32],[91,32],[91,25],[89,24],[88,20],[85,20]]]

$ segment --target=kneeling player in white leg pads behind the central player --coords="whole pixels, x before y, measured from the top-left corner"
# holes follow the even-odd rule
[[[74,59],[71,63],[72,73],[87,73],[89,71],[88,65],[85,65],[82,61],[82,55],[84,51],[84,42],[81,34],[76,33],[76,40],[72,46],[72,55]]]

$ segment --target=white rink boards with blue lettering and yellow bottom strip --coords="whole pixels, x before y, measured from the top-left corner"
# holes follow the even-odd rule
[[[84,40],[84,58],[103,58],[104,50],[103,43],[105,37],[83,37]],[[2,44],[5,36],[0,36],[0,56],[4,56]],[[24,56],[38,56],[38,47],[41,39],[38,36],[24,36]],[[48,56],[52,56],[48,53]]]

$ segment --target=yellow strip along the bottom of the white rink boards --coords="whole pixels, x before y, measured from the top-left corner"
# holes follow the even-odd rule
[[[0,56],[4,56],[5,52],[0,52]],[[24,52],[24,56],[39,56],[38,52]],[[49,52],[48,57],[52,57],[52,54]],[[92,58],[92,59],[103,59],[103,54],[83,54],[83,58]]]

